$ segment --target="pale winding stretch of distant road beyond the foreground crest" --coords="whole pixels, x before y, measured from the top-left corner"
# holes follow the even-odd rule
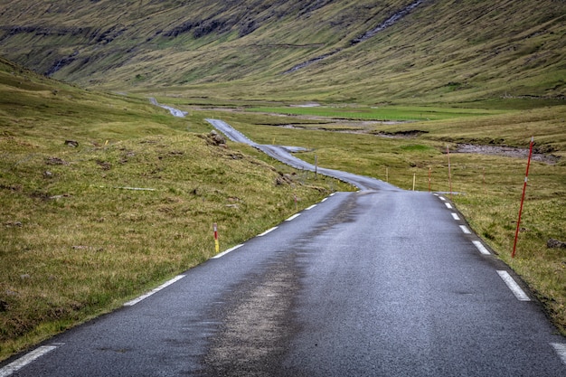
[[[257,144],[251,141],[248,137],[241,134],[240,131],[231,127],[228,123],[218,120],[218,119],[206,119],[207,122],[212,124],[213,127],[221,131],[226,137],[230,138],[231,141],[237,143],[244,143],[253,146],[260,151],[264,152],[266,155],[271,156],[284,164],[290,165],[297,169],[308,170],[318,174],[323,174],[332,178],[339,179],[348,184],[353,184],[360,190],[391,190],[399,191],[400,189],[392,184],[387,184],[375,178],[357,175],[347,172],[342,172],[334,169],[327,169],[324,167],[318,167],[309,164],[296,156],[293,156],[289,151],[296,150],[297,147],[294,146],[271,146]]]

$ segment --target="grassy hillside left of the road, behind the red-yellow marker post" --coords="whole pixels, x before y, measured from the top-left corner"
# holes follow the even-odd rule
[[[210,129],[2,62],[0,360],[210,258],[212,222],[225,250],[296,212],[295,194],[300,210],[349,189]]]

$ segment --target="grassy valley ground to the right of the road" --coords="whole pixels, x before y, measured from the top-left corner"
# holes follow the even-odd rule
[[[440,120],[397,124],[367,122],[368,118],[388,119],[383,116],[390,111],[388,108],[358,108],[365,111],[365,115],[358,113],[357,117],[354,111],[344,108],[278,110],[279,113],[300,113],[302,117],[218,110],[213,116],[222,117],[259,143],[311,148],[310,152],[298,154],[311,163],[316,154],[321,166],[388,179],[409,190],[413,174],[417,178],[416,189],[428,190],[430,171],[431,190],[448,192],[446,148],[449,146],[452,190],[461,193],[453,195],[453,201],[498,258],[524,278],[541,299],[552,321],[566,334],[566,251],[546,246],[551,238],[566,240],[566,106],[560,103],[507,99],[478,104],[482,110],[429,108]],[[271,107],[256,109],[275,111]],[[397,116],[402,108],[392,110]],[[338,118],[350,120],[321,117],[335,111],[339,111]],[[422,108],[406,108],[406,111],[416,114]],[[483,115],[475,115],[477,112]],[[369,113],[373,113],[373,117],[367,116]],[[363,122],[351,121],[355,118]],[[353,133],[356,130],[363,133]],[[406,131],[421,133],[410,138],[391,137]],[[380,133],[389,137],[380,137]],[[532,136],[535,151],[552,153],[561,159],[555,164],[533,161],[531,165],[522,231],[516,257],[512,259],[526,156],[454,152],[458,143],[527,148]]]

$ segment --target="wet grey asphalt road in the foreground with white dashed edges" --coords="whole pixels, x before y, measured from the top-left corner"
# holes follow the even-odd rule
[[[373,184],[0,376],[566,376],[566,339],[446,198]]]

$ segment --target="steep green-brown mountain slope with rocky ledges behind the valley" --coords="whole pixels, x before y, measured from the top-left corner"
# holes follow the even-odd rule
[[[559,0],[0,1],[0,53],[35,71],[226,98],[563,97],[565,34]]]

